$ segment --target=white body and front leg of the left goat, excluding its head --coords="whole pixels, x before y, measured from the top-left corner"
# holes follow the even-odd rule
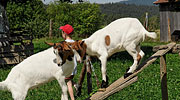
[[[62,88],[61,100],[68,100],[64,78],[71,75],[74,61],[58,66],[54,62],[56,58],[53,47],[28,57],[12,68],[5,81],[0,82],[0,90],[10,91],[14,100],[24,100],[30,88],[56,79]]]

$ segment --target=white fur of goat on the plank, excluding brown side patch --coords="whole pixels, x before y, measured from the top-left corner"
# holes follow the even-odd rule
[[[105,37],[110,37],[110,45],[106,45]],[[155,32],[148,32],[136,18],[121,18],[110,23],[108,26],[96,31],[89,38],[83,41],[87,45],[86,53],[90,56],[97,56],[101,61],[102,78],[106,82],[107,58],[116,52],[127,50],[133,57],[134,63],[129,73],[133,73],[137,67],[137,55],[144,56],[140,49],[140,42],[145,36],[156,38]]]

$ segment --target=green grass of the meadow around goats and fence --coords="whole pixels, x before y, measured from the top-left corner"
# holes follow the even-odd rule
[[[42,51],[49,46],[44,44],[47,42],[59,42],[61,39],[39,39],[34,40],[35,53]],[[142,50],[145,52],[143,60],[150,57],[152,47],[165,43],[143,42]],[[169,100],[180,100],[180,56],[178,54],[167,54],[167,80],[168,80],[168,95]],[[98,79],[101,80],[100,62],[98,59],[93,58],[93,66]],[[127,52],[120,52],[114,54],[108,59],[107,74],[109,76],[110,84],[120,78],[126,69],[133,63],[132,57]],[[7,68],[0,68],[0,81],[4,80],[13,66]],[[77,82],[82,64],[78,65],[78,73],[74,77]],[[87,82],[83,83],[82,96],[77,100],[84,100],[88,97]],[[96,80],[93,77],[93,91],[97,89]],[[60,100],[61,89],[56,80],[44,84],[33,90],[29,90],[26,100]],[[117,92],[107,98],[106,100],[160,100],[161,99],[161,86],[160,86],[160,66],[159,59],[147,67],[144,71],[138,74],[138,81],[128,86],[120,92]],[[0,100],[12,100],[11,93],[7,91],[0,91]]]

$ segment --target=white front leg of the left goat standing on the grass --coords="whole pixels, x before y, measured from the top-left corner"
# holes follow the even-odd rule
[[[55,78],[57,79],[59,85],[61,86],[62,89],[62,95],[61,95],[61,100],[68,100],[68,95],[67,95],[67,85],[65,82],[65,76],[62,75],[62,72],[57,72],[55,75]]]

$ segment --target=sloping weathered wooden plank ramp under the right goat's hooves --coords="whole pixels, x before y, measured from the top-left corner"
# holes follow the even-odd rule
[[[134,83],[137,81],[138,77],[137,74],[141,71],[143,71],[144,68],[148,67],[150,64],[152,64],[157,58],[163,56],[166,54],[168,51],[170,51],[176,43],[169,43],[167,44],[167,48],[162,48],[158,50],[156,53],[154,53],[150,58],[145,60],[143,63],[141,63],[138,67],[137,70],[130,75],[129,77],[125,78],[122,76],[118,80],[116,80],[114,83],[112,83],[109,87],[106,88],[106,91],[104,92],[96,92],[93,94],[89,100],[103,100],[107,98],[108,96],[122,90],[123,88],[127,87],[128,85]]]

